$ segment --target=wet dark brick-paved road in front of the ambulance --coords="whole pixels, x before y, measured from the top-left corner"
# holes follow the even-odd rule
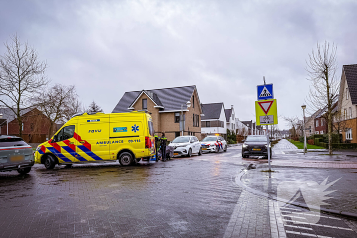
[[[241,225],[232,237],[272,237],[268,200],[242,194],[235,182],[248,164],[265,162],[243,160],[240,153],[235,146],[130,167],[36,165],[25,176],[0,173],[0,237],[230,237],[228,224]],[[287,237],[307,237],[301,236],[307,229],[285,229],[295,232]]]

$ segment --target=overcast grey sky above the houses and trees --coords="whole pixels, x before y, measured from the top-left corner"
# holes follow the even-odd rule
[[[52,83],[74,84],[106,113],[125,91],[196,85],[202,103],[254,120],[263,76],[279,115],[302,114],[317,41],[338,44],[339,77],[357,64],[356,12],[357,1],[337,0],[2,0],[0,42],[17,32],[47,60]]]

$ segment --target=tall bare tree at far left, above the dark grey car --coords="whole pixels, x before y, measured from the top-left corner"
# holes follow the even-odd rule
[[[6,51],[0,56],[0,105],[14,112],[22,137],[21,112],[36,106],[31,99],[49,80],[45,76],[47,63],[39,60],[36,49],[21,43],[17,35],[11,40],[5,42]]]

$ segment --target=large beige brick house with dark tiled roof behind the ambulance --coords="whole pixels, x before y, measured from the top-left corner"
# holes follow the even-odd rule
[[[187,108],[186,102],[191,102]],[[196,86],[152,89],[125,92],[112,113],[148,110],[158,136],[165,131],[169,141],[181,136],[181,105],[184,114],[184,135],[201,140],[201,116],[203,116]]]

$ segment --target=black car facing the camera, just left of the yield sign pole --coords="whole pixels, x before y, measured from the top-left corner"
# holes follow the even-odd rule
[[[267,156],[267,137],[266,136],[247,136],[242,145],[242,157],[248,158],[251,156]],[[269,144],[270,158],[271,158],[271,146]]]

